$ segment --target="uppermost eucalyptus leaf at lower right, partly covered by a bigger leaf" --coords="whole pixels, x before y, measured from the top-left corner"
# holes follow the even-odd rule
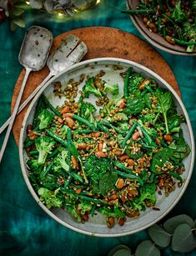
[[[173,233],[175,228],[177,228],[178,225],[182,223],[188,224],[190,228],[193,227],[193,219],[186,214],[181,214],[173,218],[169,218],[165,223],[163,223],[163,228],[168,233]]]

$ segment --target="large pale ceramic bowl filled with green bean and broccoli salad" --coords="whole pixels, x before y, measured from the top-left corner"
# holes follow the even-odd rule
[[[193,131],[158,74],[125,59],[90,59],[58,74],[23,120],[23,177],[49,216],[79,233],[148,228],[182,197]]]

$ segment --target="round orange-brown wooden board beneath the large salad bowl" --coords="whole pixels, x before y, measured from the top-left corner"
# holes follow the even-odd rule
[[[85,44],[87,44],[88,54],[84,57],[84,59],[116,57],[133,60],[134,62],[142,64],[148,69],[152,69],[155,73],[159,74],[168,82],[168,84],[173,87],[178,95],[180,95],[177,81],[165,60],[151,46],[133,34],[123,32],[117,28],[78,28],[66,33],[62,33],[58,37],[54,38],[51,52],[53,52],[53,49],[58,47],[61,40],[68,36],[68,34],[75,34],[78,36],[78,38],[83,40]],[[28,98],[28,95],[33,92],[38,84],[41,84],[48,73],[48,67],[44,67],[42,70],[32,72],[29,75],[28,82],[23,93],[22,102]],[[13,91],[12,111],[13,106],[17,100],[21,84],[23,82],[24,74],[25,70],[23,69],[18,77],[18,81]],[[18,115],[13,125],[13,135],[17,144],[19,142],[23,117],[27,108],[28,106],[20,113],[20,115]]]

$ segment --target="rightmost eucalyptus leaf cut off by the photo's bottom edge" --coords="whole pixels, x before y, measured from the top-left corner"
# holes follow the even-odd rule
[[[144,240],[136,248],[135,256],[160,256],[159,249],[150,240]]]

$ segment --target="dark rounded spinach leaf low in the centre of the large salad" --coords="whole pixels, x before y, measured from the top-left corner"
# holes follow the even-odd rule
[[[118,174],[115,172],[106,172],[100,177],[99,189],[103,196],[106,196],[108,192],[115,187],[117,180]]]

